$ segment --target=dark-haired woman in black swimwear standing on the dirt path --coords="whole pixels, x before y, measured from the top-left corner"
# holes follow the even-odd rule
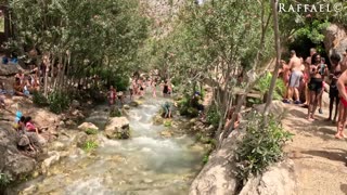
[[[321,62],[321,56],[319,54],[314,54],[312,56],[312,65],[310,66],[310,81],[308,83],[310,104],[308,106],[308,120],[314,120],[314,113],[318,106],[319,95],[323,90],[323,79],[321,74],[319,73],[318,65]]]

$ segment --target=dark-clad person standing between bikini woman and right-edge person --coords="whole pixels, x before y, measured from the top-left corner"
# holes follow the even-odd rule
[[[329,118],[326,119],[327,121],[332,120],[333,116],[333,107],[335,104],[335,116],[333,121],[336,121],[336,116],[338,113],[338,104],[339,104],[339,98],[338,98],[338,89],[337,89],[337,79],[340,76],[340,56],[337,53],[334,53],[330,56],[330,60],[332,62],[332,68],[331,68],[331,74],[329,76],[330,78],[330,90],[329,90],[329,98],[330,98],[330,103],[329,103]]]

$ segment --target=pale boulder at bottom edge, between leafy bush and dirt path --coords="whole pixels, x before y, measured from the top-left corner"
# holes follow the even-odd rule
[[[264,174],[252,178],[240,195],[294,195],[297,194],[294,162],[290,159],[271,166]]]

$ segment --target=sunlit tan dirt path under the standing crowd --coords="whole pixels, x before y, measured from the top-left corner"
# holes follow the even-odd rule
[[[318,121],[310,122],[305,119],[306,108],[287,107],[283,126],[295,136],[285,151],[295,162],[298,194],[347,194],[347,141],[334,139],[335,125],[324,121],[327,109],[317,115]]]

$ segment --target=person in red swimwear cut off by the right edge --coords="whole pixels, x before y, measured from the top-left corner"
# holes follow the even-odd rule
[[[338,122],[337,122],[337,133],[335,134],[335,138],[337,139],[344,139],[346,138],[344,130],[346,127],[346,118],[347,118],[347,61],[346,57],[340,63],[342,72],[343,74],[337,79],[337,89],[339,93],[339,113],[338,113]]]

